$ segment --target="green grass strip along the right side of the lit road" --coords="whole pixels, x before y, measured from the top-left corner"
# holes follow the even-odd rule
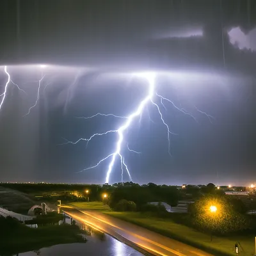
[[[210,252],[213,255],[234,255],[234,245],[239,241],[243,247],[243,251],[239,248],[239,255],[252,256],[254,255],[254,237],[252,234],[248,236],[230,236],[217,237],[214,236],[212,242],[210,236],[197,230],[175,223],[172,219],[157,218],[140,212],[115,212],[109,209],[108,205],[103,205],[102,202],[76,202],[72,205],[84,210],[100,211],[109,216],[129,221],[141,227],[162,234],[177,241],[191,244],[197,248]]]

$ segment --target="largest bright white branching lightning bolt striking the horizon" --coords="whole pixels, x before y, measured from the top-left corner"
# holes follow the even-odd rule
[[[123,147],[123,144],[124,144],[124,133],[125,133],[125,131],[127,131],[127,129],[129,129],[129,127],[131,126],[134,119],[136,119],[138,116],[141,116],[141,114],[143,113],[143,109],[145,108],[145,106],[147,106],[148,103],[151,103],[153,106],[156,107],[156,109],[159,113],[159,116],[161,118],[161,121],[162,121],[163,125],[166,127],[167,138],[168,138],[168,152],[170,154],[170,134],[175,134],[175,133],[170,131],[170,127],[168,126],[168,124],[164,120],[163,113],[161,112],[161,109],[159,108],[158,104],[154,101],[154,96],[159,97],[160,102],[161,102],[161,104],[162,104],[162,106],[165,110],[166,110],[166,106],[164,106],[163,100],[166,100],[167,102],[170,102],[175,109],[182,112],[184,115],[190,116],[191,118],[193,118],[196,121],[196,118],[193,115],[191,115],[190,113],[188,113],[185,109],[178,108],[171,100],[166,99],[165,97],[163,97],[161,95],[158,95],[155,92],[155,77],[156,77],[156,75],[154,73],[143,73],[143,74],[138,74],[136,76],[143,77],[144,79],[147,79],[147,81],[148,81],[148,93],[145,96],[145,98],[141,100],[140,104],[138,105],[138,108],[133,113],[131,113],[129,116],[116,116],[114,114],[97,113],[97,114],[95,114],[93,116],[89,116],[89,117],[80,117],[80,118],[84,118],[84,119],[90,119],[90,118],[94,118],[96,116],[114,116],[116,118],[125,118],[126,119],[125,122],[117,130],[106,131],[106,132],[102,132],[102,133],[95,133],[88,139],[80,138],[77,141],[68,141],[67,139],[65,139],[67,142],[65,142],[63,144],[68,144],[68,143],[76,144],[79,141],[87,141],[87,144],[88,144],[88,142],[90,140],[92,140],[92,138],[94,138],[95,136],[102,136],[102,135],[106,135],[106,134],[111,133],[111,132],[116,132],[118,134],[118,140],[116,141],[115,151],[112,152],[111,154],[109,154],[108,156],[104,157],[103,159],[101,159],[94,166],[85,168],[84,170],[81,170],[80,172],[95,168],[95,167],[99,166],[99,164],[102,163],[103,161],[105,161],[106,159],[111,158],[111,161],[110,161],[109,166],[108,166],[108,171],[107,171],[107,174],[106,174],[106,183],[109,183],[109,176],[110,176],[110,174],[113,170],[113,166],[116,162],[116,157],[120,157],[121,170],[122,170],[122,182],[123,182],[123,173],[124,173],[123,167],[125,167],[125,170],[127,171],[130,180],[132,180],[130,172],[129,172],[129,168],[128,168],[127,164],[125,164],[124,156],[122,155],[122,147]],[[207,115],[206,113],[200,111],[197,108],[196,108],[196,110],[199,111],[200,113],[203,113],[203,114]],[[213,118],[212,116],[209,116],[209,115],[207,115],[207,117],[208,118]],[[175,134],[175,135],[177,135],[177,134]],[[140,154],[140,152],[137,152],[135,150],[131,150],[128,147],[128,144],[126,144],[126,146],[127,146],[127,149],[130,152]]]

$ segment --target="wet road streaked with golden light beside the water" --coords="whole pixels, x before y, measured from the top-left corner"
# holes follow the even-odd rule
[[[129,246],[136,244],[152,253],[152,255],[212,256],[188,244],[180,243],[146,228],[138,227],[97,211],[82,211],[72,209],[72,207],[61,207],[61,209],[75,220],[102,230],[124,243],[131,241],[131,244],[127,243]]]

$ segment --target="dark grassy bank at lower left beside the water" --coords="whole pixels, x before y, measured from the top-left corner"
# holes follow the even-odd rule
[[[19,224],[10,230],[2,230],[0,239],[0,255],[28,252],[55,244],[86,242],[81,230],[75,225],[29,228]]]

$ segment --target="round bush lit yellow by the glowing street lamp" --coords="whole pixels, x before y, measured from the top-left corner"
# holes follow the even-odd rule
[[[216,207],[216,212],[211,207]],[[214,234],[228,234],[246,230],[250,227],[248,218],[234,211],[227,198],[223,196],[205,196],[189,207],[196,228]]]

